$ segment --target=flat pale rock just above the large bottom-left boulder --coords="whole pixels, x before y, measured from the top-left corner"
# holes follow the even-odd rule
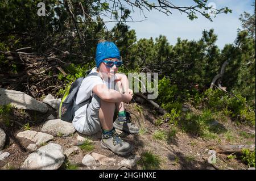
[[[27,138],[28,140],[36,142],[36,145],[43,144],[53,139],[53,136],[46,133],[27,130],[17,134],[18,137]]]

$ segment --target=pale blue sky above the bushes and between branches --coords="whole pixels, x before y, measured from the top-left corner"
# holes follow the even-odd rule
[[[151,2],[154,2],[154,0]],[[171,2],[176,6],[191,5],[193,3],[192,0],[172,0]],[[176,44],[177,37],[188,40],[199,40],[203,30],[213,28],[214,33],[218,36],[216,45],[222,49],[225,44],[234,43],[237,36],[237,29],[241,28],[240,15],[244,11],[253,14],[254,9],[251,6],[253,2],[253,0],[209,0],[208,3],[214,3],[217,9],[227,6],[232,10],[232,13],[218,14],[216,18],[213,18],[213,22],[210,22],[199,14],[197,14],[198,19],[191,21],[187,18],[187,15],[180,14],[177,10],[172,10],[173,14],[170,16],[155,10],[150,12],[144,10],[144,14],[147,17],[147,20],[144,20],[144,15],[137,9],[131,13],[133,20],[144,21],[126,24],[130,26],[130,30],[135,30],[137,40],[142,38],[150,39],[150,37],[155,39],[159,35],[164,35],[171,45]],[[109,19],[104,18],[104,20]],[[114,23],[106,23],[106,26],[108,29],[111,29]]]

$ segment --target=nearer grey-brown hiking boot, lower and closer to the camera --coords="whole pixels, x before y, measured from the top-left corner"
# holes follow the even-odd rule
[[[123,141],[114,129],[111,132],[110,134],[102,134],[102,148],[112,150],[113,153],[119,155],[126,155],[133,150],[133,146]]]

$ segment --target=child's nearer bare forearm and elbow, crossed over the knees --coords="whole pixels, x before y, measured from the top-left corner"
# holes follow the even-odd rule
[[[94,86],[92,91],[106,102],[130,102],[133,98],[130,93],[121,94],[113,89],[108,89],[105,84],[98,84]]]

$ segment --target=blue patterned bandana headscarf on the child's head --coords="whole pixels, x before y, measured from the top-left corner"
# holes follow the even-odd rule
[[[97,44],[96,49],[96,66],[97,68],[100,66],[101,62],[105,58],[118,58],[121,59],[119,49],[117,45],[110,41],[104,41]]]

